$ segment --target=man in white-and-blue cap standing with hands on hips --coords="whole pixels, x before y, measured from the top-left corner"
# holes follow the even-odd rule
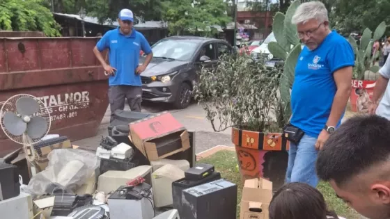
[[[93,53],[109,75],[109,104],[111,121],[114,112],[125,108],[125,99],[132,111],[141,112],[143,72],[153,58],[148,41],[133,28],[133,13],[129,9],[120,10],[118,29],[108,31],[99,40]],[[109,63],[106,63],[102,51],[109,49]],[[143,51],[146,60],[139,65],[139,52]]]

